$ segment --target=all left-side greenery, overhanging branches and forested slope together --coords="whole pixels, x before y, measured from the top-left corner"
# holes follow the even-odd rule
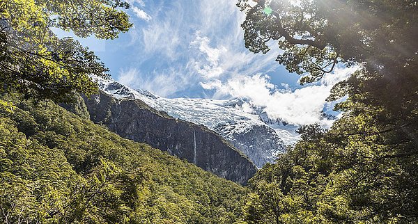
[[[119,0],[0,1],[0,223],[241,218],[242,186],[56,104],[97,93],[89,76],[108,77],[109,70],[52,29],[115,39],[132,26],[129,7]]]

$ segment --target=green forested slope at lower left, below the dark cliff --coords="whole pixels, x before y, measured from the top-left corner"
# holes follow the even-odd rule
[[[0,223],[233,223],[242,186],[52,102],[0,106]]]

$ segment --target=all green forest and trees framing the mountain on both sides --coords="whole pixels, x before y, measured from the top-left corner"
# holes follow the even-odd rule
[[[359,67],[328,97],[346,97],[342,117],[300,127],[248,186],[59,106],[98,93],[89,76],[109,70],[52,28],[118,38],[128,3],[0,0],[0,223],[418,223],[418,1],[237,6],[249,51],[276,42],[301,83]]]

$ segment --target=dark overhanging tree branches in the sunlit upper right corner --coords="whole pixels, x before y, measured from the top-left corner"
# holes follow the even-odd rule
[[[266,43],[277,40],[284,53],[277,57],[290,72],[309,74],[302,83],[320,79],[337,63],[366,63],[368,72],[394,74],[417,69],[418,3],[408,1],[260,0],[246,12],[242,28],[245,45],[254,53],[267,52]],[[270,8],[265,13],[265,8]],[[393,71],[393,70],[392,70]],[[410,79],[412,77],[409,74]]]

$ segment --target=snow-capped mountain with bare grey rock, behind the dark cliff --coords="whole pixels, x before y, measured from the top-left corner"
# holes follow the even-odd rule
[[[295,133],[297,126],[271,120],[262,109],[241,99],[167,99],[146,90],[133,90],[112,79],[95,81],[101,90],[118,99],[141,99],[174,118],[205,125],[247,154],[258,167],[273,163],[277,154],[284,152],[285,145],[299,138]]]

